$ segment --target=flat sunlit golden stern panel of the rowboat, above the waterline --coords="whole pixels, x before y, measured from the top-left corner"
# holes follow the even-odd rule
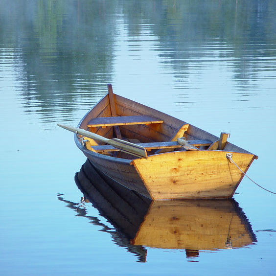
[[[252,158],[233,153],[242,170]],[[133,163],[153,199],[227,198],[242,177],[223,151],[172,152]]]

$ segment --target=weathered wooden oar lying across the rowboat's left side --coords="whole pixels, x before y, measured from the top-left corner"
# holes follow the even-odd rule
[[[137,156],[139,158],[147,158],[148,157],[146,149],[142,146],[138,146],[136,144],[133,144],[133,143],[121,140],[121,139],[117,139],[117,138],[108,139],[108,138],[102,137],[98,134],[95,134],[90,131],[80,129],[77,127],[65,126],[65,125],[61,125],[61,124],[57,124],[57,125],[62,128],[65,128],[71,132],[74,132],[76,134],[80,134],[82,136],[110,144],[122,152],[126,152],[128,154]]]

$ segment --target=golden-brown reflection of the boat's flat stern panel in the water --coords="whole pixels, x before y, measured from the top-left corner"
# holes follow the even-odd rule
[[[252,231],[252,230],[251,230]],[[186,250],[252,244],[249,222],[230,200],[153,201],[135,245]]]

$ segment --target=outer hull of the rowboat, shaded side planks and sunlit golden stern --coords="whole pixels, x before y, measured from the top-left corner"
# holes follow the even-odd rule
[[[179,151],[133,161],[84,153],[96,169],[153,200],[231,198],[243,178],[225,151]],[[254,155],[233,152],[232,158],[246,172]]]

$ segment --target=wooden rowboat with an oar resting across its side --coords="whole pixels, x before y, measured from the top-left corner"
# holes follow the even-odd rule
[[[231,198],[258,157],[181,119],[113,93],[82,118],[75,143],[93,166],[152,199]]]

